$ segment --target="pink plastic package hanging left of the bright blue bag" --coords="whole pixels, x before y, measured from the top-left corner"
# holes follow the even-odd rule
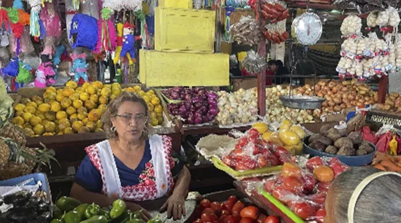
[[[47,37],[61,37],[61,23],[59,14],[55,11],[54,4],[45,3],[39,17],[46,29]]]

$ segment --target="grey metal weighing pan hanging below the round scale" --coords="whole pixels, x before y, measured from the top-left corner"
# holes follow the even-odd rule
[[[324,98],[317,96],[284,95],[280,100],[285,107],[298,109],[318,109],[322,107]]]

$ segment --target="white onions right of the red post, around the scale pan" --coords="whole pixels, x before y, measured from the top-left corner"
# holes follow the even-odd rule
[[[280,85],[266,88],[266,121],[281,123],[288,119],[294,124],[314,122],[311,110],[293,109],[283,106],[280,96],[288,95],[288,93],[289,90],[283,89]],[[294,92],[293,94],[296,93]]]

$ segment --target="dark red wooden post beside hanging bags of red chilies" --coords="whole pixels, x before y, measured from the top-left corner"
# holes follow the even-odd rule
[[[260,22],[260,32],[262,33],[265,30],[266,20],[260,15],[261,6],[264,3],[262,0],[258,0],[256,4],[256,18],[259,19]],[[258,47],[259,55],[262,58],[266,58],[266,40],[262,35],[262,40],[259,43]],[[259,115],[266,115],[266,68],[264,67],[260,74],[258,74],[258,108]]]

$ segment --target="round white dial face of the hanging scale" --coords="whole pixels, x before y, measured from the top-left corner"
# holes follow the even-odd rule
[[[322,22],[314,13],[302,14],[295,24],[295,36],[302,45],[314,45],[317,43],[322,36],[322,31]]]

